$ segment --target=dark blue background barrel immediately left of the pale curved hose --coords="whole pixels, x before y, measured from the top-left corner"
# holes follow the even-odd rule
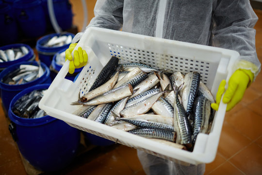
[[[39,37],[46,33],[46,18],[41,0],[15,0],[14,12],[22,33]]]

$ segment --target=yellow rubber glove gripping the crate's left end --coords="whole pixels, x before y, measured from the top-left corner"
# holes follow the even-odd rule
[[[72,57],[72,51],[75,49],[77,43],[70,44],[69,48],[66,49],[66,60],[69,60],[69,73],[74,73],[75,69],[82,68],[86,65],[88,56],[85,50],[82,50],[81,47],[78,47],[76,51],[74,51],[74,60]]]

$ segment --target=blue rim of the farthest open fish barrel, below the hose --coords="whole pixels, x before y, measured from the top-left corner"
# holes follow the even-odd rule
[[[53,54],[57,53],[58,51],[60,51],[64,48],[68,48],[71,43],[66,44],[64,46],[59,46],[59,47],[44,47],[43,46],[43,44],[46,43],[45,41],[47,41],[49,38],[51,38],[53,36],[59,36],[59,35],[71,35],[72,37],[75,36],[74,34],[69,33],[69,32],[66,32],[66,33],[63,33],[63,34],[54,33],[54,34],[42,36],[36,42],[35,49],[37,50],[37,52],[41,53],[41,54],[45,54],[45,55],[53,55]]]

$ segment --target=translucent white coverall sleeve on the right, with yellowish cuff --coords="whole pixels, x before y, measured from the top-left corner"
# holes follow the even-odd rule
[[[251,70],[256,77],[261,70],[253,29],[258,17],[249,0],[217,0],[214,6],[213,45],[239,52],[234,70]]]

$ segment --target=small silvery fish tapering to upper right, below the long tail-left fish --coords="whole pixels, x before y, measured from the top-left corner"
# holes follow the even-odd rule
[[[106,119],[105,119],[105,124],[107,125],[110,125],[114,120],[115,120],[115,117],[113,115],[113,113],[117,116],[119,116],[120,112],[124,109],[126,103],[127,103],[127,100],[128,100],[128,97],[126,98],[123,98],[122,100],[118,101],[113,107],[112,109],[110,110],[110,112],[108,113],[108,115],[106,116]]]

